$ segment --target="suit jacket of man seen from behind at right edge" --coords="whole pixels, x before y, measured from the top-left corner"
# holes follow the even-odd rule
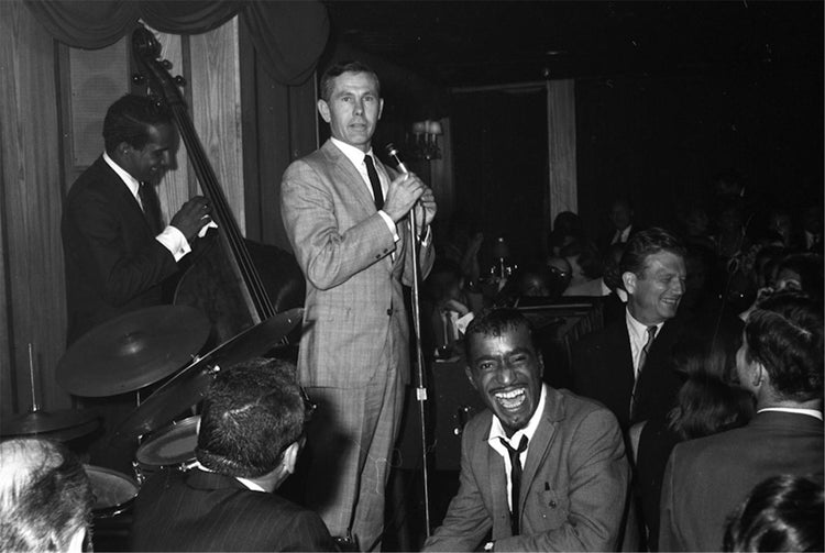
[[[680,443],[664,472],[661,551],[719,551],[726,517],[757,484],[779,474],[822,479],[823,445],[822,421],[772,411]]]

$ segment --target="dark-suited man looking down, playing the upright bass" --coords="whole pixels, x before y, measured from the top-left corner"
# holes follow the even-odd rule
[[[196,197],[165,229],[154,187],[172,166],[177,133],[155,100],[127,95],[103,120],[106,152],[72,185],[62,234],[70,345],[119,314],[161,305],[189,241],[210,222]]]

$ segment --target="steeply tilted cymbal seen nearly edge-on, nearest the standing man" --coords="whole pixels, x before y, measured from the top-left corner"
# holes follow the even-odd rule
[[[278,345],[300,322],[302,313],[302,308],[277,313],[182,369],[127,417],[112,435],[112,441],[133,440],[172,422],[206,397],[218,372],[263,355]]]

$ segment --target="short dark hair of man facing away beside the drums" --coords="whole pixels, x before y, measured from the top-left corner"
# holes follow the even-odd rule
[[[233,365],[218,373],[204,399],[195,453],[210,471],[257,478],[277,468],[305,420],[293,363],[258,358]]]

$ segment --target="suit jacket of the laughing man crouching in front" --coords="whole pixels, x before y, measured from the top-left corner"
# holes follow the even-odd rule
[[[513,537],[504,460],[487,443],[493,413],[465,427],[461,487],[427,551],[476,551],[488,530],[496,551],[613,551],[629,468],[616,419],[568,390],[548,391],[521,476],[520,528]]]

